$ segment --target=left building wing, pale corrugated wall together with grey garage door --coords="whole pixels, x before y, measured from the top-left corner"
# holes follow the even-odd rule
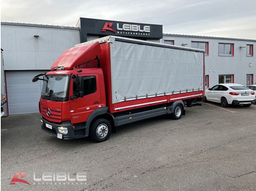
[[[1,23],[8,113],[39,112],[42,82],[34,76],[50,71],[62,52],[80,43],[79,28]]]

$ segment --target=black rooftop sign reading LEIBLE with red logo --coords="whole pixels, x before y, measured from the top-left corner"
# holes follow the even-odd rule
[[[125,36],[135,39],[162,39],[162,25],[144,23],[129,23],[113,20],[97,20],[80,18],[81,42],[87,41],[87,36]]]

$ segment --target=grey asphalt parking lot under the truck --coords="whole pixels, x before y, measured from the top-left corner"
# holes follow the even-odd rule
[[[99,144],[56,139],[39,114],[11,116],[1,118],[1,190],[255,190],[255,148],[256,105],[203,103],[181,120],[124,125]],[[21,172],[30,185],[10,184]]]

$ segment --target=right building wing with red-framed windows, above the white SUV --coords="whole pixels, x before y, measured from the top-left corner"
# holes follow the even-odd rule
[[[206,51],[206,87],[217,83],[255,84],[256,40],[164,34],[162,43]]]

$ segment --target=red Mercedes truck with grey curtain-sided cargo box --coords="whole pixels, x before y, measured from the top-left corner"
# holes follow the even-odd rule
[[[204,95],[204,51],[106,36],[66,50],[43,80],[42,130],[59,139],[108,139],[130,122],[170,114]]]

